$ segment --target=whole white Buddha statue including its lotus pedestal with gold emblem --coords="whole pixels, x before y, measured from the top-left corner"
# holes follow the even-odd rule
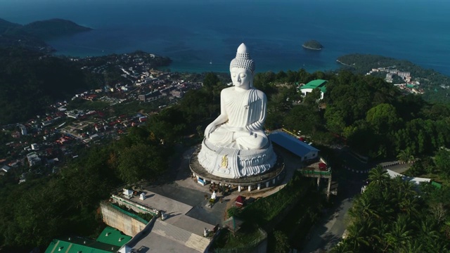
[[[271,169],[276,155],[264,134],[266,95],[253,87],[255,63],[240,44],[230,63],[233,86],[220,94],[220,115],[205,129],[198,162],[216,176],[237,179]]]

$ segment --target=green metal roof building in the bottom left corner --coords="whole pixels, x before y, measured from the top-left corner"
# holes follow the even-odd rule
[[[58,238],[50,242],[45,253],[75,252],[75,253],[106,253],[118,252],[120,247],[131,240],[115,228],[106,227],[97,240],[81,237]]]

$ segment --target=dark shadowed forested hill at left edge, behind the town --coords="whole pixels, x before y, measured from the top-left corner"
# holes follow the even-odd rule
[[[98,86],[101,78],[70,60],[0,47],[0,124],[31,119],[56,100]]]

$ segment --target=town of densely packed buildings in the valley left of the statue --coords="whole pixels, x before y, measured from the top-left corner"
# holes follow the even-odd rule
[[[0,175],[20,175],[19,183],[30,176],[56,173],[65,160],[77,159],[78,151],[105,139],[120,138],[131,126],[144,124],[147,117],[176,103],[201,82],[187,81],[189,74],[154,70],[153,54],[134,53],[113,56],[115,59],[72,58],[85,71],[105,72],[115,67],[129,82],[105,85],[76,93],[70,100],[53,103],[46,112],[27,122],[1,126],[8,141],[0,150]],[[149,60],[150,59],[150,60]],[[87,105],[85,105],[87,103]],[[89,105],[99,104],[89,109]],[[83,105],[82,108],[79,105]],[[113,106],[146,105],[139,113],[118,113]],[[86,108],[87,107],[87,108]]]

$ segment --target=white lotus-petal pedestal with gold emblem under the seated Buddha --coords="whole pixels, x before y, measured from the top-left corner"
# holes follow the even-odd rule
[[[269,171],[276,163],[276,155],[270,142],[259,150],[237,150],[217,147],[205,138],[198,162],[214,176],[239,179]]]

